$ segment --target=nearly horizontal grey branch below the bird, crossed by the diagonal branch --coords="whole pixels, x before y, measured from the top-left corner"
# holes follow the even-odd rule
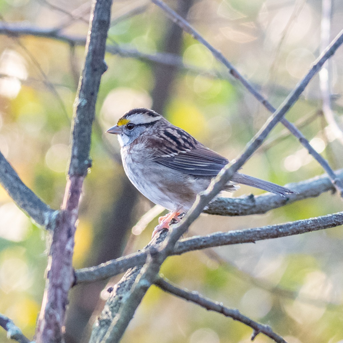
[[[171,255],[182,255],[189,251],[223,245],[256,243],[259,240],[299,235],[340,225],[343,225],[343,212],[327,214],[316,218],[298,220],[285,224],[267,225],[246,230],[218,232],[207,236],[196,236],[181,239],[177,243],[175,250]],[[147,254],[148,251],[143,249],[139,252],[120,257],[94,267],[78,269],[75,271],[75,284],[105,280],[111,276],[122,273],[129,268],[133,268],[136,265],[142,265],[146,261]]]

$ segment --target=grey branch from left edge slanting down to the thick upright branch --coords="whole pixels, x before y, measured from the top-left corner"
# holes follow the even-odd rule
[[[39,225],[47,225],[54,210],[40,200],[20,179],[0,152],[0,183],[15,204]]]

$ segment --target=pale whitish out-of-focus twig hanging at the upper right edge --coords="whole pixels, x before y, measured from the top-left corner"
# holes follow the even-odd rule
[[[330,42],[331,26],[331,0],[322,0],[322,19],[320,30],[320,48],[326,47]],[[343,145],[343,129],[338,125],[331,107],[330,99],[330,61],[327,61],[319,72],[319,85],[322,94],[322,108],[324,117],[334,134],[334,137]]]

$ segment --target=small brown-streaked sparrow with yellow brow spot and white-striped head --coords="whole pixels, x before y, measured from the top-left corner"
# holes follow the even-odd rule
[[[122,164],[132,184],[149,200],[170,213],[159,217],[154,235],[169,228],[170,221],[189,211],[197,194],[229,163],[185,130],[147,108],[123,114],[107,133],[118,135]],[[291,189],[236,172],[224,190],[248,185],[281,196]]]

